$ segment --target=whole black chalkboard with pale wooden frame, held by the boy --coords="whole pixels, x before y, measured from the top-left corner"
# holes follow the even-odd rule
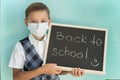
[[[105,74],[107,29],[53,23],[48,32],[44,64]]]

